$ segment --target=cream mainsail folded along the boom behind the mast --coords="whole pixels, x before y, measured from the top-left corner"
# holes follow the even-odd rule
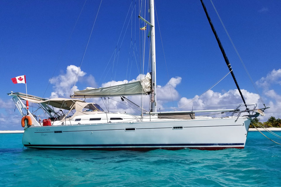
[[[133,96],[149,94],[151,92],[151,75],[147,73],[143,79],[109,86],[104,88],[87,87],[85,90],[75,91],[72,98],[89,98],[89,97],[115,97],[115,96]]]

